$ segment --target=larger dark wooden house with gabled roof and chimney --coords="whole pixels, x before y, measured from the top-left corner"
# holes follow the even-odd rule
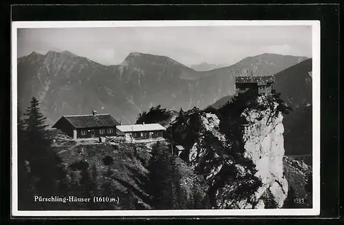
[[[110,114],[62,116],[52,127],[60,129],[68,136],[77,138],[98,138],[116,136],[116,127],[120,125]]]

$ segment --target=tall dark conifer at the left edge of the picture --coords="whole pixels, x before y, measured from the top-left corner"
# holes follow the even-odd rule
[[[35,184],[36,193],[42,196],[56,195],[58,165],[61,159],[51,149],[52,139],[45,125],[45,116],[39,109],[39,100],[32,98],[25,116],[25,155],[30,162],[30,173],[37,180]],[[43,203],[39,208],[47,208],[53,204]]]

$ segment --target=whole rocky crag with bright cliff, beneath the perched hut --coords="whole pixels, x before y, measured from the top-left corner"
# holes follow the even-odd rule
[[[203,175],[213,208],[283,206],[285,107],[278,96],[244,94],[220,109],[193,109],[175,120],[173,141],[190,149],[180,157]]]

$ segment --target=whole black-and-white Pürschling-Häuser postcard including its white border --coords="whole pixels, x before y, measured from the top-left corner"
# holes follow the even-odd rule
[[[13,215],[319,211],[319,21],[12,22]]]

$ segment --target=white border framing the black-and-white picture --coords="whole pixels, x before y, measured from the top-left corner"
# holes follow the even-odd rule
[[[110,28],[160,26],[312,26],[312,165],[313,208],[296,209],[206,209],[206,210],[147,210],[147,211],[18,211],[17,171],[17,29],[18,28]],[[320,213],[320,21],[21,21],[12,22],[12,216],[265,216],[319,215]]]

